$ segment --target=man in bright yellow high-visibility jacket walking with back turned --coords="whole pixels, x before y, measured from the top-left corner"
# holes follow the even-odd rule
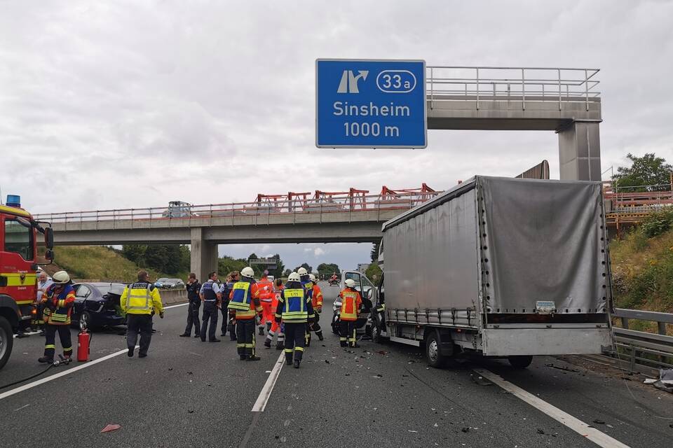
[[[138,272],[138,281],[124,288],[119,299],[122,311],[126,314],[126,345],[128,357],[133,356],[135,343],[140,332],[140,350],[138,358],[147,356],[152,339],[152,314],[163,318],[161,295],[154,284],[149,282],[147,271]]]

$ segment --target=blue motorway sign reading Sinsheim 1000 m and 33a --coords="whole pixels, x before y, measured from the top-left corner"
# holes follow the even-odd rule
[[[315,146],[425,148],[425,61],[318,59]]]

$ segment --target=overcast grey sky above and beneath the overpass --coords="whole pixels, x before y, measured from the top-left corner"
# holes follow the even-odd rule
[[[543,158],[558,178],[553,132],[431,130],[422,151],[316,149],[319,57],[600,68],[603,169],[629,152],[671,161],[672,23],[667,1],[0,0],[0,187],[46,212],[444,189]],[[369,248],[265,249],[354,267]]]

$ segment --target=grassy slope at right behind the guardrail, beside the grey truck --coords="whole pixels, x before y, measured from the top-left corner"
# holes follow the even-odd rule
[[[648,237],[637,228],[611,241],[610,255],[616,307],[673,313],[673,230]],[[630,321],[630,328],[657,331],[653,322]]]

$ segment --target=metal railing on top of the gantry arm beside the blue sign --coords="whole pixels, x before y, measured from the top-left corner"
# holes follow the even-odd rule
[[[562,69],[540,67],[426,66],[430,109],[435,102],[480,101],[564,103],[600,101],[596,76],[600,69]]]

